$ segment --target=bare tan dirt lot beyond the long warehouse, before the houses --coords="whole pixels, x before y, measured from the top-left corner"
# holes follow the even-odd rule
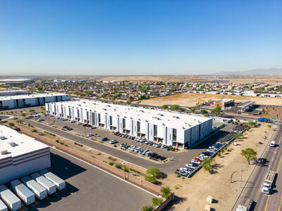
[[[247,101],[255,101],[259,105],[274,105],[282,106],[281,98],[262,98],[251,96],[235,96],[235,95],[220,95],[220,94],[195,94],[195,93],[182,93],[172,96],[164,96],[159,98],[152,98],[149,100],[141,101],[140,104],[162,106],[178,104],[180,106],[197,106],[197,103],[207,102],[209,100],[218,101],[222,98],[233,98],[235,103],[245,103]]]

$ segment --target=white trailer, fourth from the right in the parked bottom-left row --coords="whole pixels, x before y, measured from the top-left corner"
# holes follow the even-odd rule
[[[30,205],[35,202],[35,193],[32,193],[29,188],[20,182],[20,180],[15,179],[10,182],[11,189],[16,195],[23,200],[26,205]]]

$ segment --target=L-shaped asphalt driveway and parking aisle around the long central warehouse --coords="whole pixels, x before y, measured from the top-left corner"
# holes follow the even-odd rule
[[[231,131],[233,127],[233,125],[228,125],[227,127],[224,127],[221,131],[214,134],[209,139],[206,139],[202,143],[198,144],[197,146],[195,146],[195,148],[186,151],[185,153],[177,153],[177,154],[170,153],[170,152],[165,151],[164,149],[155,148],[154,146],[144,145],[144,149],[148,148],[150,151],[152,150],[153,152],[159,153],[160,155],[168,155],[168,158],[172,159],[171,162],[168,162],[168,163],[157,163],[151,160],[140,158],[140,155],[133,155],[131,153],[126,153],[124,151],[118,150],[117,148],[106,146],[102,143],[97,143],[97,141],[91,141],[90,139],[85,139],[81,136],[77,136],[70,132],[63,131],[62,129],[56,129],[47,124],[43,124],[40,122],[36,122],[34,120],[28,120],[28,119],[24,119],[23,121],[26,123],[30,123],[40,129],[44,129],[45,131],[51,132],[53,134],[57,134],[59,136],[63,136],[66,139],[71,139],[72,141],[76,141],[85,146],[94,148],[98,151],[108,153],[109,155],[113,155],[114,157],[120,158],[121,160],[125,160],[126,162],[131,162],[135,165],[139,165],[147,169],[150,167],[157,167],[162,172],[165,172],[166,174],[173,174],[180,167],[184,167],[185,164],[189,163],[193,158],[197,157],[199,153],[201,153],[202,151],[206,151],[209,146],[211,146],[213,143],[218,141],[223,136],[223,134],[226,134],[226,131]],[[142,147],[142,143],[138,143],[137,141],[134,141],[134,140],[124,139],[118,136],[114,136],[113,134],[111,134],[110,131],[105,130],[105,129],[85,128],[85,127],[82,127],[82,125],[77,125],[75,123],[69,123],[68,121],[55,120],[54,118],[50,117],[50,122],[53,122],[53,121],[56,122],[55,124],[57,126],[58,125],[68,125],[70,127],[73,127],[74,132],[77,132],[80,134],[84,134],[84,130],[86,130],[86,134],[90,132],[92,132],[93,134],[95,133],[99,134],[99,138],[95,138],[95,139],[102,139],[102,137],[106,136],[109,139],[118,140],[119,141],[118,144],[127,142],[128,144],[132,143],[135,146]]]

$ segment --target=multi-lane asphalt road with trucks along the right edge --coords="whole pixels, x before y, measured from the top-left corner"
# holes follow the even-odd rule
[[[270,138],[270,137],[269,137]],[[269,146],[270,141],[276,141],[276,146]],[[252,198],[255,200],[255,210],[280,210],[282,203],[282,129],[281,125],[278,125],[277,131],[272,138],[266,143],[266,149],[262,154],[262,158],[259,159],[259,164],[255,167],[250,179],[235,204],[233,210],[238,207],[243,201],[244,197]],[[271,170],[276,172],[276,181],[274,181],[274,188],[269,196],[260,192],[260,188],[264,181],[264,177],[267,172]],[[245,183],[243,183],[245,184]]]

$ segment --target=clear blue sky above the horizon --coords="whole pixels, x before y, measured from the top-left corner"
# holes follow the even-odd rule
[[[0,74],[282,68],[282,1],[0,1]]]

